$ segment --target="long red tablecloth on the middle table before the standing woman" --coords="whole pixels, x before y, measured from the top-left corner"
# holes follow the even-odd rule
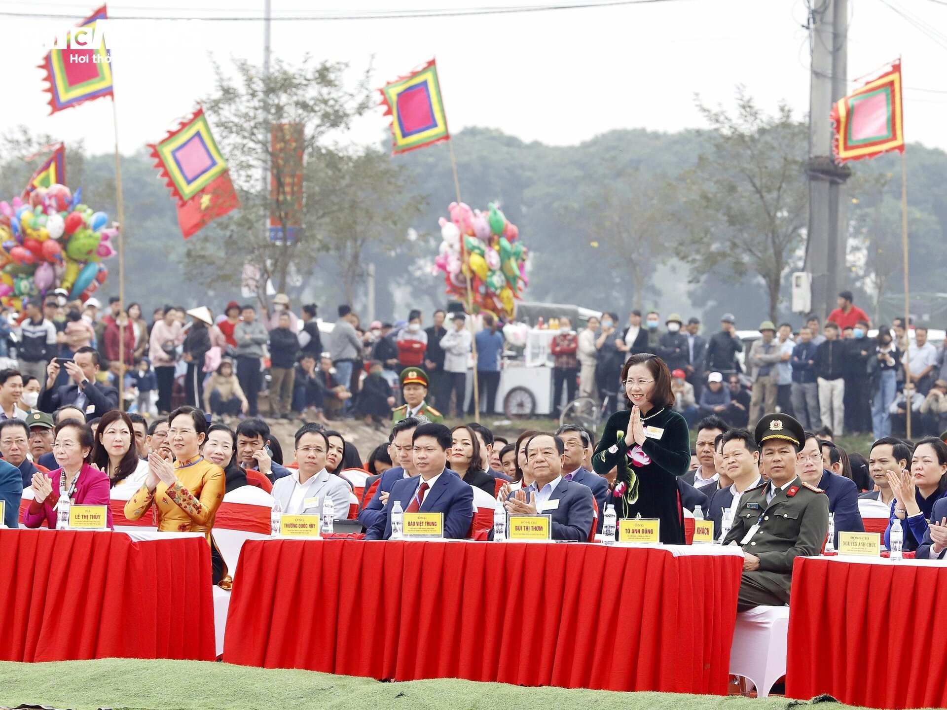
[[[723,695],[741,570],[739,557],[596,544],[249,541],[223,658]]]

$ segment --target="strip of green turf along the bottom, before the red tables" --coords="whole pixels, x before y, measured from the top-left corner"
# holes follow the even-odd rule
[[[785,698],[749,700],[733,696],[524,688],[454,679],[379,683],[308,670],[264,670],[196,661],[0,663],[0,706],[14,707],[20,703],[73,710],[782,710],[800,704]],[[838,703],[822,706],[832,710],[849,707]]]

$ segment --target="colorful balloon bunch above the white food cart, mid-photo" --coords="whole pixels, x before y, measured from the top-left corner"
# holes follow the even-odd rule
[[[444,273],[447,293],[466,302],[470,280],[474,312],[491,311],[507,320],[516,314],[516,300],[527,288],[527,248],[520,230],[496,204],[487,212],[450,204],[451,221],[440,218],[437,273]]]

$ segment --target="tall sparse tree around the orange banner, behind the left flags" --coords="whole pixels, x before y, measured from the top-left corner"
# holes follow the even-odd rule
[[[284,186],[280,163],[274,160],[274,124],[301,126],[301,149],[306,164],[327,157],[334,149],[329,140],[344,131],[353,118],[371,106],[368,72],[349,89],[344,82],[348,64],[306,58],[300,66],[275,62],[268,76],[249,62],[237,62],[237,79],[231,80],[220,65],[213,96],[204,108],[241,198],[241,208],[218,222],[217,239],[201,235],[188,243],[191,275],[202,275],[208,284],[239,283],[241,266],[259,269],[260,300],[265,303],[266,284],[285,292],[291,265],[298,273],[313,269],[323,249],[322,223],[343,204],[341,188],[326,182],[304,180],[301,222],[295,240],[274,242],[266,227],[270,215],[282,224],[294,219],[295,197],[277,190],[271,193],[270,169],[276,169],[277,185]],[[298,218],[297,218],[298,219]],[[241,260],[236,261],[235,256]]]

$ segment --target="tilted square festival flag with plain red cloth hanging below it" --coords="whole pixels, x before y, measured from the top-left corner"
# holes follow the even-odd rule
[[[240,206],[227,163],[217,148],[203,109],[160,143],[148,146],[154,167],[171,191],[185,239]]]

